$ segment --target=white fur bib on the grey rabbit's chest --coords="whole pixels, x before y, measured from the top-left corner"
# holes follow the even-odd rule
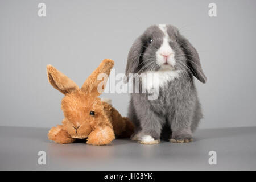
[[[164,87],[169,81],[179,77],[181,70],[164,69],[160,71],[151,71],[144,73],[142,77],[142,89],[146,89],[147,92],[151,92],[151,89]]]

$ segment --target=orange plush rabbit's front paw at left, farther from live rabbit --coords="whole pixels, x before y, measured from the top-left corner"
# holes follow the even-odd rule
[[[60,126],[52,127],[48,133],[49,140],[52,140],[55,143],[72,143],[75,141],[74,138],[67,133],[67,131],[63,130]]]

